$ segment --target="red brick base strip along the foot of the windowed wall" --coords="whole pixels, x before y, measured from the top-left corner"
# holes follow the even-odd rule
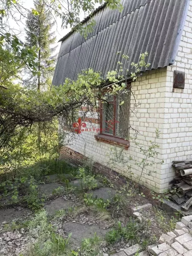
[[[62,147],[60,151],[60,159],[66,160],[69,163],[76,164],[76,165],[81,165],[83,160],[88,160],[88,157],[68,148],[68,147]],[[113,182],[116,186],[122,186],[127,183],[129,180],[128,178],[121,176],[119,173],[116,171],[112,170],[111,168],[102,165],[98,162],[93,163],[93,170],[97,173],[101,173],[102,175],[106,176],[111,182]],[[117,178],[118,177],[118,178]],[[133,181],[130,181],[134,186],[137,184]],[[147,196],[147,198],[154,204],[158,204],[158,201],[152,199],[151,195],[151,190],[148,188],[145,188],[144,186],[139,185],[139,189],[141,192],[144,193],[144,195]]]

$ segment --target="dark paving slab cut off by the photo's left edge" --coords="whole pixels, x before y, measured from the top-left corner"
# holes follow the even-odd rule
[[[27,208],[9,208],[0,210],[0,224],[4,221],[10,222],[17,218],[24,218],[32,212]]]

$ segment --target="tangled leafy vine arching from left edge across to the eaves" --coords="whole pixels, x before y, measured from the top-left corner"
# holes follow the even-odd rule
[[[132,79],[140,73],[142,67],[148,67],[144,59],[147,53],[141,54],[139,64],[132,63],[135,71],[131,72]],[[122,65],[122,64],[121,64]],[[78,75],[76,81],[66,79],[63,85],[53,86],[47,91],[27,90],[21,86],[12,85],[8,89],[1,89],[0,101],[0,128],[9,132],[17,127],[31,127],[35,123],[49,122],[58,117],[71,121],[74,113],[79,115],[79,110],[87,106],[87,111],[97,105],[97,99],[106,101],[105,96],[100,94],[100,90],[112,83],[111,94],[117,94],[125,89],[125,83],[119,80],[127,79],[122,75],[117,75],[118,70],[109,71],[106,79],[100,73],[92,69],[84,70]],[[110,81],[110,82],[109,82]],[[82,118],[86,116],[86,111],[82,111]],[[3,145],[6,141],[0,138]]]

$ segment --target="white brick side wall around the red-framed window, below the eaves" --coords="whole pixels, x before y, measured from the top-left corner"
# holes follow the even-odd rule
[[[160,68],[158,70],[148,71],[138,81],[132,83],[132,90],[134,92],[137,103],[140,106],[136,109],[136,116],[134,114],[130,117],[131,126],[139,131],[138,142],[140,145],[149,145],[149,140],[154,140],[156,128],[162,129],[162,125],[166,122],[164,119],[165,109],[165,91],[166,91],[166,75],[167,68]],[[131,109],[134,107],[134,97],[131,96]],[[168,123],[168,119],[167,119]],[[99,128],[99,124],[86,123],[87,128],[93,126]],[[165,124],[167,125],[167,124]],[[74,135],[74,139],[69,147],[87,157],[92,158],[103,165],[112,167],[118,173],[130,178],[130,169],[133,175],[132,180],[138,181],[141,175],[141,168],[135,165],[136,161],[141,161],[143,156],[140,153],[139,147],[135,146],[134,143],[130,142],[128,150],[123,150],[122,154],[124,159],[128,159],[132,156],[134,160],[127,160],[126,164],[116,163],[111,165],[110,154],[111,148],[114,146],[104,143],[97,142],[95,140],[94,131],[84,131],[80,135]],[[133,130],[130,131],[130,135],[134,135]],[[162,159],[166,159],[166,149],[163,147],[163,143],[167,140],[163,140],[163,134],[161,138],[157,140],[160,145],[158,149],[158,159],[155,160],[155,164],[152,167],[148,167],[148,170],[144,170],[140,183],[148,188],[160,190],[162,185],[162,179],[167,178],[165,171],[162,171],[162,166],[158,164]],[[120,147],[116,147],[116,150],[121,150]],[[112,155],[111,155],[112,157]],[[154,171],[151,175],[148,175],[149,171]]]

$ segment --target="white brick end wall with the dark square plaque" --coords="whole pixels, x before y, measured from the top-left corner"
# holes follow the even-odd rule
[[[174,70],[185,72],[185,88],[174,89]],[[163,138],[167,140],[166,160],[162,169],[167,177],[162,180],[162,188],[168,186],[175,176],[171,167],[173,160],[192,158],[192,1],[190,1],[187,18],[174,65],[167,67],[165,93],[165,113],[168,127],[163,128]]]

